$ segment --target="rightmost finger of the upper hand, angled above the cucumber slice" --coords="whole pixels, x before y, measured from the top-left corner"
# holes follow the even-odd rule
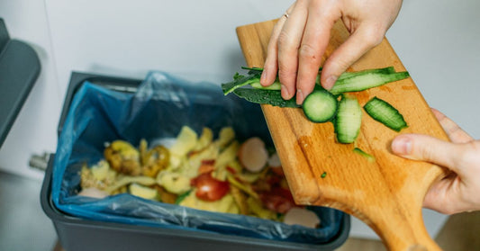
[[[384,39],[385,31],[376,25],[362,23],[325,61],[321,77],[322,86],[330,90],[349,66]]]

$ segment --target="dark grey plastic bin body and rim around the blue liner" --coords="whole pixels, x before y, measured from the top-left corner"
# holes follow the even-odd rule
[[[176,81],[176,78],[172,78]],[[98,88],[109,90],[109,92],[118,92],[122,94],[133,94],[137,92],[137,87],[142,81],[136,79],[125,79],[112,76],[97,76],[85,73],[74,72],[70,78],[68,85],[68,93],[64,103],[64,109],[59,120],[59,144],[62,144],[62,131],[64,130],[64,122],[68,116],[70,105],[75,94],[82,88],[85,83],[87,85],[95,85]],[[174,85],[168,85],[175,88]],[[95,87],[95,88],[96,88]],[[161,90],[159,90],[161,91]],[[203,105],[209,105],[209,102],[202,100],[201,92],[196,90],[199,96],[195,99],[195,105],[198,106],[197,111],[207,109]],[[207,100],[207,99],[205,99]],[[250,105],[249,109],[261,111],[258,105],[245,103]],[[195,108],[196,109],[196,108]],[[207,109],[208,110],[208,109]],[[254,111],[249,110],[249,111]],[[196,112],[194,112],[196,113]],[[181,114],[180,114],[181,115]],[[188,114],[192,116],[192,114]],[[249,113],[249,117],[252,113]],[[251,118],[250,118],[251,119]],[[263,120],[263,117],[261,117]],[[235,124],[235,120],[232,121]],[[261,122],[261,121],[260,121]],[[257,120],[258,124],[258,120]],[[240,127],[243,125],[240,125]],[[255,129],[239,130],[240,136],[247,134],[262,133],[258,130],[266,129],[266,124],[260,124]],[[265,134],[265,132],[263,132]],[[61,146],[60,146],[61,147]],[[59,150],[57,152],[59,155]],[[289,238],[284,240],[276,238],[264,238],[259,229],[246,229],[238,231],[224,227],[225,232],[219,228],[219,225],[206,226],[201,228],[176,227],[165,224],[157,224],[155,221],[149,220],[124,220],[122,217],[83,217],[77,214],[77,211],[66,211],[59,209],[52,195],[53,173],[56,161],[55,157],[50,157],[49,167],[45,174],[45,178],[41,189],[41,206],[43,211],[52,220],[59,241],[67,251],[73,250],[333,250],[340,247],[349,235],[349,215],[333,209],[322,209],[324,214],[322,223],[322,231],[328,235],[322,242],[302,243],[291,241]],[[57,160],[58,161],[58,160]],[[63,182],[63,181],[62,181]],[[179,207],[177,205],[171,205]],[[212,212],[209,212],[213,215]],[[231,217],[231,216],[228,216]],[[234,216],[233,216],[234,217]],[[255,220],[254,220],[255,221]],[[140,224],[138,224],[140,222]],[[229,222],[228,220],[226,222]],[[238,221],[237,221],[238,222]],[[221,222],[222,223],[222,222]],[[255,221],[255,224],[258,222]],[[260,225],[253,224],[252,228]],[[208,224],[206,224],[208,225]],[[226,224],[228,225],[228,224]],[[232,224],[235,225],[235,224]],[[213,230],[213,229],[217,230]],[[238,231],[238,232],[236,232]],[[246,234],[243,234],[245,232]],[[322,232],[322,233],[323,233]],[[260,234],[258,234],[260,233]],[[294,233],[302,235],[302,233]]]

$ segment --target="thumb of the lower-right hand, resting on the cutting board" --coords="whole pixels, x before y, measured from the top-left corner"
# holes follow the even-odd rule
[[[392,151],[400,157],[427,161],[458,173],[460,145],[422,134],[403,134],[392,142]]]

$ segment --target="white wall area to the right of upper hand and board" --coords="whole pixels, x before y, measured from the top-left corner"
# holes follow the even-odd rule
[[[480,139],[480,1],[403,1],[387,38],[431,107]]]

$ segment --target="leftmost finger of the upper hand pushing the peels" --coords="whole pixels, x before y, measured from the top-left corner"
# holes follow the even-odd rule
[[[294,9],[294,5],[292,4],[285,13],[290,15],[292,10]],[[272,85],[276,79],[276,72],[278,71],[277,59],[278,59],[278,36],[280,35],[280,31],[284,28],[284,24],[286,22],[287,17],[282,15],[272,31],[272,35],[270,40],[268,41],[267,46],[267,58],[265,59],[264,69],[262,72],[262,76],[260,77],[260,85]]]

